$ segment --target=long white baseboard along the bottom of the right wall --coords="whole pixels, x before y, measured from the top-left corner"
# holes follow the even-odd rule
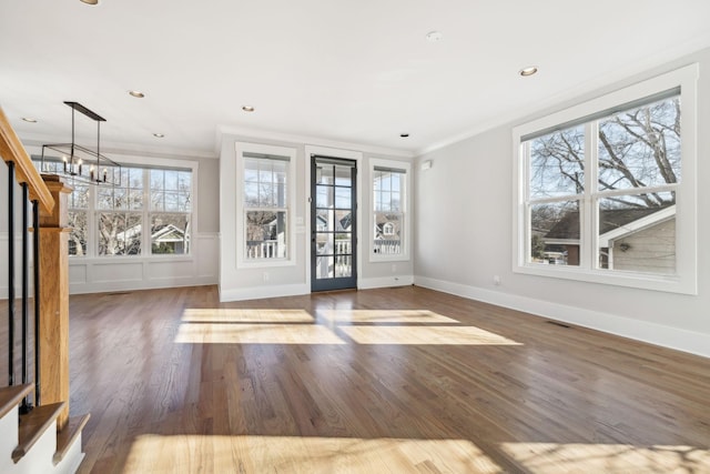
[[[538,316],[550,317],[552,320],[710,357],[710,334],[425,276],[415,276],[414,284],[469,300],[483,301]]]

